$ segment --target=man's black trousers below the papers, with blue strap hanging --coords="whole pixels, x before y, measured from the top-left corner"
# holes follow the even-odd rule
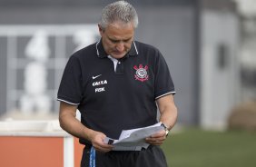
[[[167,162],[159,146],[150,145],[142,151],[94,152],[94,147],[86,145],[81,167],[167,167]]]

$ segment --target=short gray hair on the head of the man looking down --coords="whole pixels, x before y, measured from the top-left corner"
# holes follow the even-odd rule
[[[138,26],[138,15],[133,5],[125,1],[117,1],[106,5],[103,8],[102,17],[99,25],[104,30],[107,25],[114,22],[121,22],[123,24],[132,23],[133,27]]]

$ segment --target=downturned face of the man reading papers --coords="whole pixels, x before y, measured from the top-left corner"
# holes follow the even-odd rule
[[[133,24],[114,23],[108,25],[105,30],[99,25],[99,31],[106,54],[120,59],[130,51],[134,35]]]

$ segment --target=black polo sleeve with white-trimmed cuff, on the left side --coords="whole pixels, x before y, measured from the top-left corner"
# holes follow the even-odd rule
[[[78,105],[82,98],[82,72],[78,58],[68,60],[57,93],[57,100]]]

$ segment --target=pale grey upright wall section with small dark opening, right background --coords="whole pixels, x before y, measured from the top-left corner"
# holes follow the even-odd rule
[[[239,99],[239,20],[224,11],[203,11],[201,18],[201,125],[224,129]],[[218,46],[227,46],[227,64],[218,64]]]

